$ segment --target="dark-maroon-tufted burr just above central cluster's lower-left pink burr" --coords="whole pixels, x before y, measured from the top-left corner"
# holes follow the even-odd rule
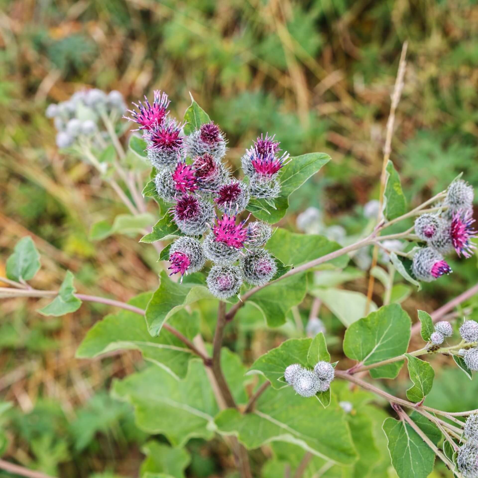
[[[189,236],[202,234],[213,217],[212,204],[191,194],[181,196],[174,206],[174,221]]]

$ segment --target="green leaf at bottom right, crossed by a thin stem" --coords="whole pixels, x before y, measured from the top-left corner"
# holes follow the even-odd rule
[[[435,430],[425,424],[421,415],[413,413],[411,418],[432,441],[437,438]],[[425,428],[426,426],[426,428]],[[399,478],[427,478],[433,471],[435,452],[422,440],[415,430],[402,421],[387,418],[382,425],[387,436],[392,465]]]

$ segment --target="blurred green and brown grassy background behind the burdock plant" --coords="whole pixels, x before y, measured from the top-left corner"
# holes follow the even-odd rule
[[[33,235],[43,254],[38,288],[54,288],[65,268],[76,273],[82,292],[123,300],[157,284],[151,247],[124,236],[100,246],[88,239],[96,218],[124,208],[91,185],[98,183],[85,163],[57,152],[44,117],[49,102],[83,87],[118,89],[131,100],[161,89],[179,118],[192,92],[226,132],[234,168],[266,131],[293,155],[329,153],[332,162],[294,194],[281,225],[295,228],[296,215],[315,206],[327,225],[357,234],[367,223],[362,206],[378,197],[390,94],[407,40],[391,156],[405,195],[417,205],[462,171],[478,184],[472,0],[0,0],[0,11],[0,272],[17,239]],[[406,300],[412,317],[476,282],[475,258],[451,265],[453,276]],[[364,292],[366,277],[349,285]],[[380,284],[376,289],[380,294]],[[93,363],[74,359],[104,306],[84,307],[63,321],[38,318],[36,307],[11,300],[2,309],[0,392],[15,403],[0,416],[8,424],[6,456],[62,477],[136,476],[147,437],[131,410],[104,390],[111,377],[141,367],[141,359],[134,352]],[[297,319],[306,321],[300,310],[288,328],[266,339],[247,310],[228,332],[228,346],[246,359],[290,335]],[[207,310],[203,316],[207,337],[214,325]],[[323,320],[327,330],[342,333],[331,312]],[[433,400],[444,400],[436,389]],[[223,446],[191,441],[188,476],[229,469]]]

